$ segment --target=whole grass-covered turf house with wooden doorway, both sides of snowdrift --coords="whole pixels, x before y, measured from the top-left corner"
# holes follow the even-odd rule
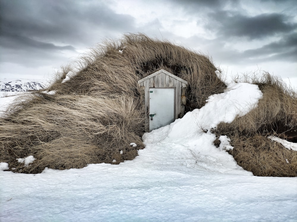
[[[206,55],[144,34],[106,41],[63,67],[47,91],[20,97],[8,108],[0,119],[0,162],[14,172],[40,173],[45,167],[132,160],[144,148],[144,132],[182,118],[226,89],[217,70]],[[263,98],[247,115],[213,131],[231,139],[230,154],[254,175],[297,176],[296,151],[267,138],[296,141],[296,92],[268,73],[238,81],[258,84]],[[18,162],[30,155],[35,160],[29,166]]]

